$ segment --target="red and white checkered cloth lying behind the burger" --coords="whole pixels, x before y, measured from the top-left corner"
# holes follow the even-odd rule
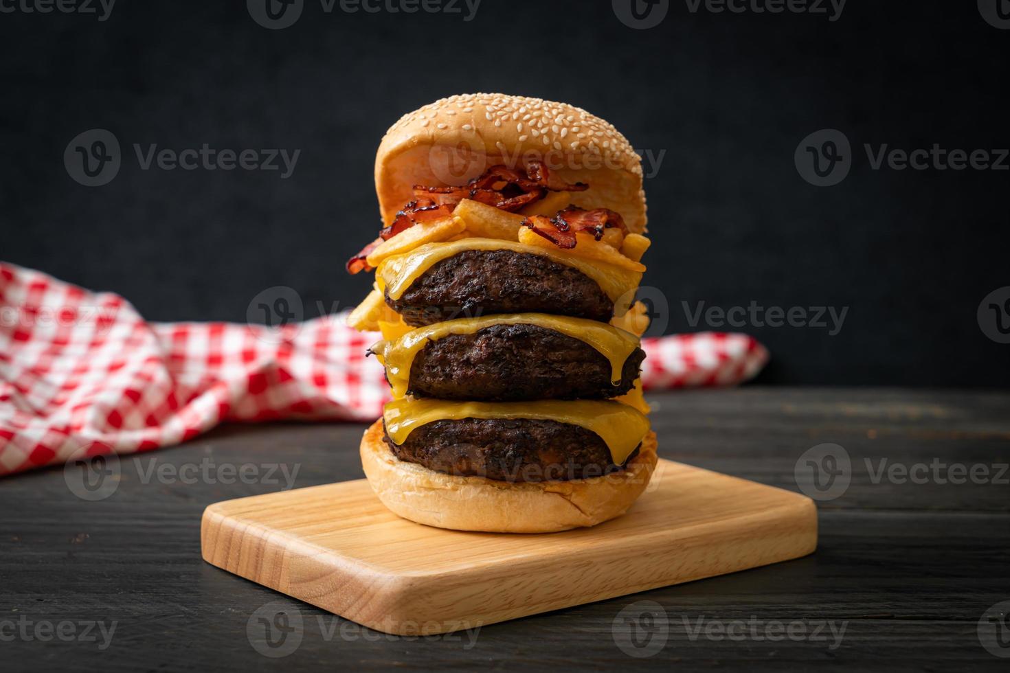
[[[325,316],[281,328],[148,323],[118,295],[0,262],[0,474],[184,442],[222,421],[372,421],[379,338]],[[645,339],[646,390],[728,385],[768,351],[741,334]]]

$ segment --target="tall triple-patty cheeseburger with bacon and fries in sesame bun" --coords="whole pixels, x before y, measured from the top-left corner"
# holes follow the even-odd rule
[[[656,462],[641,397],[640,158],[585,110],[501,94],[404,115],[376,157],[375,272],[348,324],[393,400],[362,439],[379,498],[446,529],[624,514]]]

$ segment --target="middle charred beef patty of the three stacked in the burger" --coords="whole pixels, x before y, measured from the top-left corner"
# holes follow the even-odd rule
[[[605,400],[634,385],[645,353],[624,361],[611,382],[610,361],[585,341],[537,325],[493,325],[429,341],[410,368],[416,397],[479,402]]]

